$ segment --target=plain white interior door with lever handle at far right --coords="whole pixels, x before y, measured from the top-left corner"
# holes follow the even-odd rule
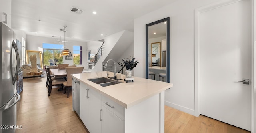
[[[199,15],[200,114],[250,131],[250,0]]]

